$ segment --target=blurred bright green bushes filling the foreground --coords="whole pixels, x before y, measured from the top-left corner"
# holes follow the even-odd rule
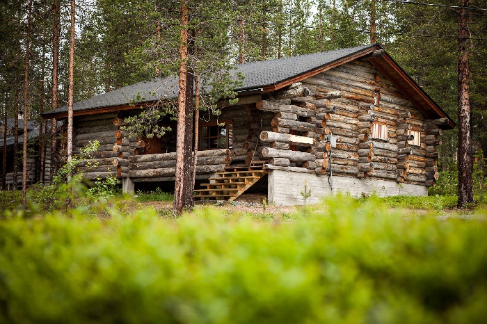
[[[485,220],[391,215],[343,197],[294,222],[220,213],[0,220],[0,323],[487,317]]]

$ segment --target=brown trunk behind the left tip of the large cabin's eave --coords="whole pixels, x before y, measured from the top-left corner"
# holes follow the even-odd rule
[[[56,111],[58,109],[58,88],[59,88],[59,31],[60,27],[60,11],[61,11],[61,0],[54,0],[52,11],[54,14],[54,26],[52,29],[52,110]],[[56,118],[52,119],[51,122],[51,179],[56,173],[57,159],[56,159],[56,132],[57,132],[57,121]]]

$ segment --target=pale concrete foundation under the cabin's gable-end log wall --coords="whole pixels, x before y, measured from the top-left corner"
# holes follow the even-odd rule
[[[321,200],[337,193],[349,193],[353,197],[376,193],[379,197],[393,195],[426,196],[428,188],[417,184],[397,184],[396,181],[378,179],[357,179],[354,177],[333,176],[333,190],[328,183],[328,175],[317,175],[314,172],[289,172],[269,170],[268,199],[277,206],[293,206],[304,203],[301,191],[305,181],[311,196],[308,204],[318,204]]]

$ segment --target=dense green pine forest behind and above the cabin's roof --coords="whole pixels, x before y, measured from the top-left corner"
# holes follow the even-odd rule
[[[189,19],[218,44],[227,63],[309,54],[378,42],[454,119],[457,119],[459,1],[212,0],[189,1]],[[470,1],[470,106],[474,148],[487,148],[487,10]],[[175,74],[179,1],[76,1],[74,101]],[[58,13],[58,14],[56,14]],[[0,109],[13,117],[24,106],[29,1],[2,1]],[[54,26],[59,17],[59,91],[67,104],[70,1],[32,1],[29,29],[29,118],[53,107]],[[456,162],[457,130],[442,136],[442,170]]]

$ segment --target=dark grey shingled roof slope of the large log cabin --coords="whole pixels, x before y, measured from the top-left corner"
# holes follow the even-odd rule
[[[264,86],[272,86],[273,84],[286,81],[299,74],[315,70],[321,66],[333,63],[335,60],[340,60],[340,58],[374,46],[377,45],[369,44],[348,49],[337,49],[334,51],[236,65],[237,71],[242,72],[245,79],[244,86],[235,90],[251,90]],[[162,97],[177,97],[177,82],[178,80],[175,76],[138,82],[131,86],[75,102],[73,109],[74,111],[85,111],[93,108],[121,106],[130,103],[141,104],[143,102],[154,102]],[[56,113],[65,111],[67,111],[67,106],[59,108]],[[45,115],[49,115],[49,113],[54,113],[54,111],[49,111]]]

